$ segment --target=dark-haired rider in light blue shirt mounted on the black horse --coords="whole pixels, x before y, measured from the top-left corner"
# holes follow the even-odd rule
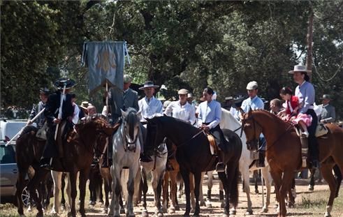
[[[217,102],[217,100],[212,100],[214,91],[210,87],[206,87],[203,91],[203,98],[204,102],[200,103],[198,108],[196,109],[196,113],[198,114],[198,125],[202,130],[210,131],[214,136],[214,140],[216,140],[217,146],[219,148],[224,147],[225,145],[225,138],[224,134],[221,131],[219,123],[221,121],[221,105]],[[224,153],[219,151],[219,158],[216,166],[217,172],[224,172],[225,165],[223,163],[224,160]]]

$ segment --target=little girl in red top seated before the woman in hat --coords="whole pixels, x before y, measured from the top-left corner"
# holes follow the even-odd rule
[[[293,91],[289,87],[283,87],[280,91],[280,96],[286,101],[286,108],[279,112],[279,114],[286,114],[282,119],[299,124],[302,128],[302,136],[309,137],[307,126],[311,125],[312,117],[308,114],[298,113],[300,107],[302,107],[302,104],[299,103],[299,98],[293,96]]]

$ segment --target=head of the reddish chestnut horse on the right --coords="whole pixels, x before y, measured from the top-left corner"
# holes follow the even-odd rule
[[[241,111],[242,112],[242,111]],[[258,141],[262,133],[262,127],[254,119],[254,112],[242,112],[242,130],[247,137],[247,149],[249,151],[256,151],[258,149]]]

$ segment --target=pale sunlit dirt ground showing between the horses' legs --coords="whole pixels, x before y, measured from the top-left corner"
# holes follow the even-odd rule
[[[212,208],[206,208],[206,207],[200,207],[200,216],[221,216],[223,209],[220,208],[220,202],[219,202],[219,184],[218,179],[215,177],[215,184],[212,188]],[[207,193],[207,184],[206,184],[206,177],[203,184],[203,192],[204,194]],[[295,208],[287,209],[288,215],[287,216],[324,216],[325,213],[325,203],[328,200],[328,185],[326,184],[317,184],[315,186],[315,191],[309,191],[307,188],[307,180],[306,179],[296,179],[296,189],[297,189],[297,197],[295,199]],[[272,193],[270,197],[270,206],[269,211],[267,214],[261,213],[261,207],[262,207],[262,188],[261,186],[258,187],[259,193],[254,193],[254,186],[251,185],[251,201],[252,201],[252,208],[254,210],[253,215],[249,216],[277,216],[275,212],[275,193]],[[272,186],[272,192],[274,191],[274,187]],[[264,188],[264,192],[266,192]],[[235,216],[246,216],[246,210],[247,210],[247,196],[244,192],[242,192],[242,185],[239,186],[239,204],[237,209],[237,214]],[[313,198],[312,198],[313,195]],[[206,197],[206,195],[204,195]],[[318,199],[318,197],[323,197],[323,199]],[[313,200],[312,200],[313,199]],[[342,196],[340,196],[340,199],[342,200]],[[312,209],[312,207],[304,207],[305,202],[310,202],[312,200],[313,206],[315,209]],[[318,201],[319,202],[318,202]],[[311,202],[310,202],[311,203]],[[164,216],[182,216],[184,214],[184,208],[185,208],[185,197],[179,199],[180,204],[180,211],[176,211],[174,214],[166,213]],[[300,206],[298,204],[301,204]],[[338,204],[339,206],[340,204]],[[149,188],[148,195],[147,195],[147,206],[149,211],[149,216],[154,216],[154,202],[153,202],[153,191],[152,188]],[[297,207],[299,206],[299,207]],[[337,206],[337,204],[336,204]],[[336,207],[334,204],[334,207]],[[87,216],[105,216],[104,214],[101,214],[101,205],[97,205],[87,211]],[[89,212],[90,211],[90,212]],[[137,216],[140,216],[143,208],[141,204],[138,207],[134,208],[134,211]],[[124,214],[122,215],[124,216]],[[336,207],[335,211],[333,211],[333,216],[343,216],[343,208]]]

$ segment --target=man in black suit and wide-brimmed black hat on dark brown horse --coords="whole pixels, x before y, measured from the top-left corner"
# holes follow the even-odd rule
[[[62,121],[66,121],[66,128],[71,127],[73,121],[73,104],[71,101],[71,88],[74,86],[75,82],[69,78],[62,77],[56,82],[54,82],[54,86],[57,87],[57,91],[52,93],[49,98],[48,102],[45,105],[44,115],[47,120],[48,124],[48,132],[47,132],[47,142],[45,144],[45,149],[43,151],[43,157],[41,158],[41,167],[51,167],[52,158],[57,157],[59,151],[56,146],[55,141],[55,131],[56,126],[59,124],[59,128],[61,127]],[[65,87],[65,96],[62,104],[61,109],[61,119],[59,119],[59,108],[61,103],[61,97],[63,94],[63,90]],[[64,130],[66,131],[66,130]],[[58,138],[57,138],[58,139]],[[56,140],[57,140],[56,139]]]

